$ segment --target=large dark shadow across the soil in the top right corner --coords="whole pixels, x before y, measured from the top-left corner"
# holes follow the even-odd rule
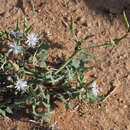
[[[104,16],[122,15],[125,11],[130,22],[130,0],[84,0],[86,6],[92,9],[96,14],[102,14]]]

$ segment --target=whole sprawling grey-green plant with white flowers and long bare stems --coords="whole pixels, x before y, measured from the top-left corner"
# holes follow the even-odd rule
[[[27,27],[26,18],[23,31],[18,20],[15,30],[9,27],[5,32],[0,32],[0,114],[7,116],[14,110],[28,108],[32,115],[44,120],[50,118],[50,99],[59,99],[68,108],[71,108],[69,101],[74,98],[93,103],[103,100],[104,95],[98,96],[96,81],[88,82],[85,78],[85,73],[93,69],[90,59],[96,59],[87,50],[118,45],[126,38],[130,27],[125,13],[123,16],[128,28],[125,35],[86,48],[82,48],[83,42],[76,36],[72,19],[70,30],[76,47],[58,68],[48,65],[50,45],[31,32],[32,26]]]

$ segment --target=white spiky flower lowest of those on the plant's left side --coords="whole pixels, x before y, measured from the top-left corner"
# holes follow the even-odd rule
[[[27,88],[27,81],[19,79],[16,83],[15,88],[18,91],[25,91],[25,89]]]

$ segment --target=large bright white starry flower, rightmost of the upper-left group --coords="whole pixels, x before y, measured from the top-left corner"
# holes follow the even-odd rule
[[[35,33],[30,33],[27,36],[27,44],[28,46],[35,46],[36,43],[38,42],[37,35]]]

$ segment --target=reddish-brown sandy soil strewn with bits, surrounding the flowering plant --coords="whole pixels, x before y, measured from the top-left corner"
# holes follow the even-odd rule
[[[69,23],[73,16],[78,37],[87,38],[83,46],[104,43],[120,37],[126,29],[122,11],[126,10],[130,20],[129,0],[34,0],[35,13],[27,0],[0,0],[0,29],[16,26],[16,20],[27,16],[33,31],[50,41],[49,53],[52,62],[58,57],[68,58],[75,43],[70,40]],[[78,102],[77,109],[66,110],[60,102],[52,113],[49,125],[53,130],[130,130],[130,39],[119,46],[101,47],[89,50],[98,56],[93,71],[87,77],[97,78],[100,94],[112,92],[103,102],[91,105]],[[76,101],[73,101],[76,103]],[[0,117],[0,130],[47,130],[44,125],[30,123],[24,113],[13,117]]]

